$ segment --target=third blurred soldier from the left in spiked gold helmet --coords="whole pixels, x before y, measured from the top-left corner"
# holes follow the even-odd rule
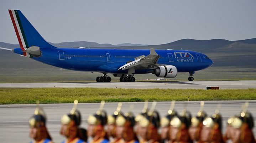
[[[94,115],[88,117],[88,136],[92,136],[91,143],[107,143],[108,136],[104,130],[107,124],[107,114],[103,110],[105,102],[101,101],[99,110]]]

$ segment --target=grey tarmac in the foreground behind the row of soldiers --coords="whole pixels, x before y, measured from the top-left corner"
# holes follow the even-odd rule
[[[256,121],[256,101],[248,101],[248,110],[254,116],[254,122]],[[242,104],[245,101],[205,101],[204,110],[207,112],[208,116],[211,116],[217,105],[221,104],[220,113],[223,116],[223,132],[225,132],[226,121],[230,116],[236,115],[241,111]],[[82,125],[81,127],[87,128],[87,118],[90,114],[96,113],[99,108],[100,103],[78,103],[78,110],[82,114]],[[106,103],[104,110],[108,114],[113,114],[116,110],[118,103]],[[121,111],[129,111],[130,105],[133,104],[132,109],[135,115],[139,114],[143,108],[143,102],[126,102],[123,103]],[[161,116],[165,116],[171,105],[171,102],[157,102],[156,110]],[[47,127],[54,140],[54,142],[61,142],[64,137],[59,134],[61,127],[61,116],[63,114],[69,113],[73,107],[73,104],[41,104],[41,107],[46,112],[47,115]],[[149,103],[149,107],[151,102]],[[0,140],[1,142],[29,142],[31,139],[28,137],[29,127],[28,119],[32,116],[35,111],[35,104],[17,104],[17,105],[0,105]],[[200,108],[199,101],[189,101],[189,102],[176,102],[175,110],[178,113],[186,108],[194,116],[197,114]],[[254,135],[256,135],[256,129],[254,128]]]

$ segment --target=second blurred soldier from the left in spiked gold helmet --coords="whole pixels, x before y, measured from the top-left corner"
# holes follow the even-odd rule
[[[60,134],[65,136],[67,139],[62,143],[84,143],[83,139],[87,139],[85,129],[80,129],[81,115],[77,110],[78,101],[74,101],[74,106],[69,114],[64,114],[61,117],[61,131]],[[82,139],[83,138],[83,139]]]

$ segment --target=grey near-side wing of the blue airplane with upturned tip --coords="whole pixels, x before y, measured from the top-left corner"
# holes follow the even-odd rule
[[[148,56],[139,56],[135,58],[135,61],[129,62],[122,67],[120,67],[118,70],[122,69],[129,69],[129,68],[136,68],[136,69],[146,69],[146,68],[154,68],[157,65],[157,61],[159,59],[159,55],[156,53],[156,51],[151,48],[150,49],[150,55]]]

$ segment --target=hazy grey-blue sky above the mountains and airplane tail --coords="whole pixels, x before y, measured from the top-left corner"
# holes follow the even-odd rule
[[[8,9],[54,43],[256,38],[256,0],[1,0],[0,41],[17,44]]]

